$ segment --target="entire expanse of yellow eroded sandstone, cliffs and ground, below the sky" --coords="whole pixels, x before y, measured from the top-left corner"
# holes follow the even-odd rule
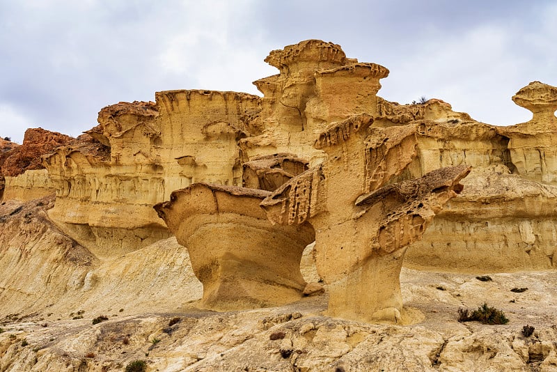
[[[0,141],[0,370],[554,371],[557,88],[494,127],[378,97],[389,71],[331,42],[266,61],[262,98],[164,91]],[[457,322],[485,301],[510,323]]]

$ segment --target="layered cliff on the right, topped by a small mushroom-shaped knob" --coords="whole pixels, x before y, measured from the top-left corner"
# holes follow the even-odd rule
[[[429,109],[431,102],[422,105],[426,107],[424,114],[404,114],[395,107],[398,113],[386,115],[384,121],[395,118],[404,123],[401,118],[407,118],[407,123],[421,128],[418,156],[406,177],[420,176],[439,166],[473,166],[463,180],[462,194],[448,202],[423,240],[409,248],[410,267],[458,272],[557,267],[557,189],[551,181],[556,91],[538,82],[522,88],[513,100],[535,114],[528,123],[510,127],[478,123],[450,112],[447,104],[443,108],[437,103],[434,116],[425,119],[425,112],[433,111]],[[384,111],[394,110],[387,107]]]

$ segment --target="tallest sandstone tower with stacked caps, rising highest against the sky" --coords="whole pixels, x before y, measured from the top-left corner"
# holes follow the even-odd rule
[[[313,147],[317,134],[329,123],[353,114],[375,116],[379,79],[389,75],[383,66],[358,63],[347,58],[340,45],[321,40],[274,50],[265,62],[280,73],[253,83],[264,95],[256,118],[264,130],[240,140],[250,160],[258,155],[294,153],[312,166],[318,164],[323,152]]]

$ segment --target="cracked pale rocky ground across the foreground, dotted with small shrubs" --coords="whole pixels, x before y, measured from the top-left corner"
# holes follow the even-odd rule
[[[187,305],[127,315],[125,307],[118,316],[107,313],[108,321],[92,325],[91,319],[104,313],[104,304],[97,302],[83,319],[57,312],[22,321],[5,318],[0,366],[8,372],[118,371],[133,360],[145,360],[148,371],[557,369],[554,271],[494,274],[483,282],[465,274],[402,269],[400,279],[407,305],[424,315],[418,324],[329,318],[321,315],[327,296],[317,296],[283,307],[227,313]],[[515,287],[528,290],[510,292]],[[459,307],[478,307],[486,299],[505,311],[508,325],[457,323]],[[180,319],[169,325],[173,318]],[[521,333],[526,324],[535,327],[530,337]],[[22,346],[22,340],[28,345]]]

